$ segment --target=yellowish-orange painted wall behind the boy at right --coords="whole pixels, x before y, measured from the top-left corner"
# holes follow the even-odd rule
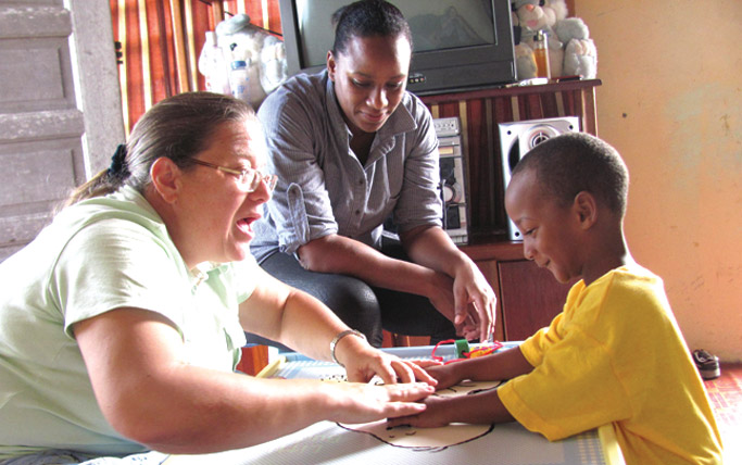
[[[742,360],[740,0],[576,0],[599,53],[599,135],[631,173],[626,234],[691,349]]]

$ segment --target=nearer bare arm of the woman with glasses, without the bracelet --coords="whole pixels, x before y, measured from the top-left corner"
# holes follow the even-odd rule
[[[96,399],[125,437],[171,453],[244,448],[315,422],[410,415],[432,388],[259,379],[189,365],[163,316],[118,309],[74,326]]]

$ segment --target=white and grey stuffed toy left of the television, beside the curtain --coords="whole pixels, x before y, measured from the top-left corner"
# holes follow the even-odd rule
[[[214,72],[228,75],[232,61],[244,61],[248,74],[247,100],[253,108],[257,109],[265,97],[286,80],[288,73],[284,42],[250,24],[250,16],[247,14],[237,14],[217,24],[216,41],[224,56],[223,64],[215,71],[201,70],[199,63],[199,71],[204,75]]]

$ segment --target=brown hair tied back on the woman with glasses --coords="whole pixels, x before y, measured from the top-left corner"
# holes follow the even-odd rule
[[[180,168],[207,149],[216,128],[226,122],[256,120],[248,103],[212,92],[185,92],[156,103],[137,122],[126,144],[118,146],[111,166],[78,187],[66,205],[130,186],[143,192],[150,184],[150,167],[167,156]]]

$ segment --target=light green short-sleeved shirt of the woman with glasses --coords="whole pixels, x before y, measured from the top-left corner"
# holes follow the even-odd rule
[[[156,312],[173,322],[191,364],[231,370],[244,344],[237,307],[256,266],[250,259],[189,271],[130,188],[65,209],[0,264],[0,458],[144,450],[103,417],[73,325],[120,307]]]

